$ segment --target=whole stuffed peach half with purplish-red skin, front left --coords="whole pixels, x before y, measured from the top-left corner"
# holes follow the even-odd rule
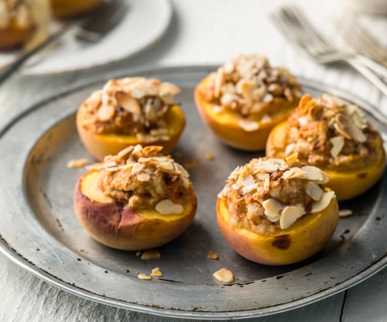
[[[109,247],[142,250],[188,228],[196,212],[192,183],[161,149],[130,146],[79,179],[75,212],[91,237]]]

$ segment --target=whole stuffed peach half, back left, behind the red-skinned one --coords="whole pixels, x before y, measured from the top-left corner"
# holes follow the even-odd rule
[[[170,153],[184,130],[185,116],[174,96],[180,89],[145,78],[110,80],[77,112],[77,129],[98,160],[129,145],[158,145]]]

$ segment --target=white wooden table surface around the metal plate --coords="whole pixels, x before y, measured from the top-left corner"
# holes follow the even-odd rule
[[[336,1],[297,2],[305,7],[316,25],[320,26],[330,39],[341,44],[328,18],[339,10],[336,8]],[[387,112],[387,98],[382,97],[361,76],[345,66],[317,66],[297,53],[283,39],[268,18],[269,13],[280,3],[280,0],[175,0],[175,15],[168,34],[156,46],[135,58],[92,71],[44,77],[16,75],[8,80],[0,86],[0,127],[33,102],[67,86],[77,86],[129,68],[222,63],[239,52],[264,54],[274,65],[283,64],[297,75],[347,89]],[[374,17],[368,19],[366,24],[386,45],[387,18]],[[387,321],[386,272],[381,271],[350,290],[320,302],[256,320]],[[1,254],[0,294],[0,321],[176,320],[109,307],[79,298],[40,281]]]

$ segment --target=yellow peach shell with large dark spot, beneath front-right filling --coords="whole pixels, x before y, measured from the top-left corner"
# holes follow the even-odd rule
[[[259,235],[230,225],[225,199],[216,204],[217,224],[229,244],[243,257],[264,265],[287,265],[307,259],[329,241],[339,220],[336,198],[320,213],[307,214],[288,229]]]

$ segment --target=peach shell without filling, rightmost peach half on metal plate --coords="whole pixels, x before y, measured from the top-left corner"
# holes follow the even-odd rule
[[[273,158],[282,158],[284,149],[277,148],[284,146],[286,134],[288,131],[288,122],[282,122],[276,125],[271,131],[266,144],[266,155]],[[383,149],[382,139],[379,137],[380,148],[382,155],[375,163],[369,164],[361,169],[354,170],[332,170],[324,169],[329,175],[329,182],[326,184],[329,188],[335,191],[339,201],[355,198],[371,186],[381,177],[385,169],[385,152]],[[275,151],[273,153],[273,151]]]

